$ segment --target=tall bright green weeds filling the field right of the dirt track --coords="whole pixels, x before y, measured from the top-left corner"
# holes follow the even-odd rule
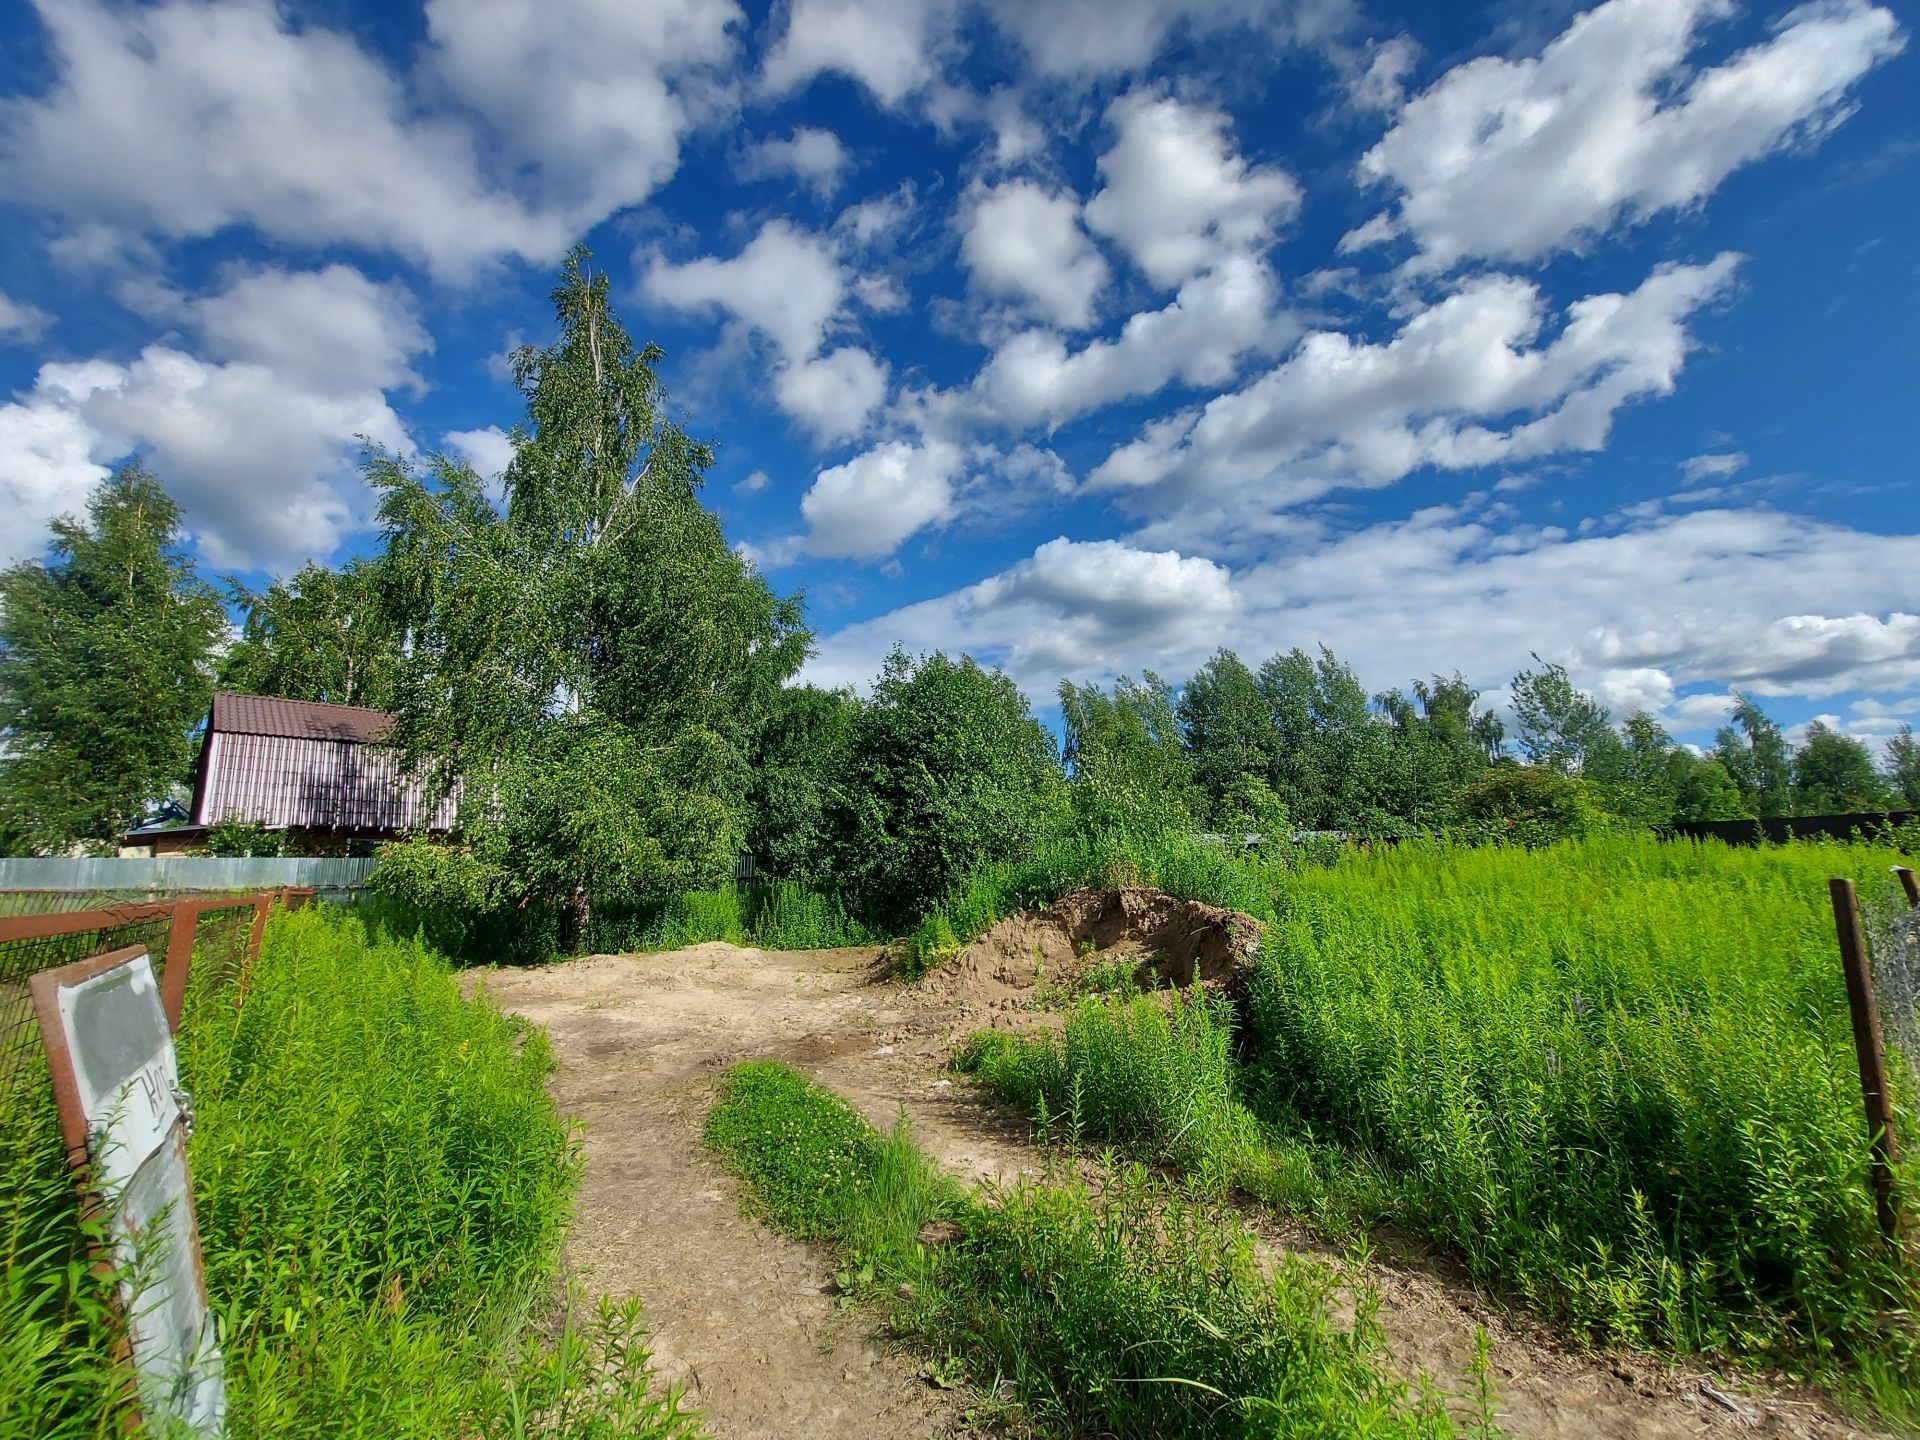
[[[1225,1016],[1152,1000],[975,1064],[1056,1135],[1066,1112],[1331,1227],[1423,1235],[1596,1338],[1851,1377],[1895,1413],[1920,1392],[1914,1283],[1876,1233],[1826,893],[1895,858],[1356,851],[1281,897],[1248,1064]]]

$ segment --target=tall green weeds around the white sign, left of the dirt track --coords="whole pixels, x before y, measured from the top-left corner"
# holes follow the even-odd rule
[[[230,998],[194,991],[179,1048],[234,1440],[693,1432],[649,1394],[637,1309],[555,1290],[578,1154],[540,1031],[324,906],[275,916]],[[8,1181],[40,1162],[10,1148]],[[8,1212],[0,1436],[115,1434],[71,1185],[31,1196]]]

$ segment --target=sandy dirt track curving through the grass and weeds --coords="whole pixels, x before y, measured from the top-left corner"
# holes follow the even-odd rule
[[[876,1125],[904,1108],[920,1144],[956,1175],[1010,1181],[1039,1167],[1025,1127],[943,1073],[950,1044],[1006,1021],[950,996],[877,983],[876,950],[762,952],[697,945],[488,972],[499,1002],[547,1027],[553,1092],[586,1127],[588,1169],[568,1260],[595,1292],[639,1296],[655,1357],[714,1436],[948,1436],[960,1402],[841,1313],[826,1260],[739,1210],[735,1181],[701,1148],[720,1073],[778,1058]],[[1275,1248],[1313,1248],[1256,1217]],[[1382,1263],[1380,1323],[1396,1363],[1465,1386],[1473,1332],[1492,1338],[1500,1423],[1515,1436],[1866,1434],[1818,1396],[1741,1390],[1638,1356],[1571,1352],[1434,1267]],[[1716,1398],[1718,1394],[1718,1398]]]

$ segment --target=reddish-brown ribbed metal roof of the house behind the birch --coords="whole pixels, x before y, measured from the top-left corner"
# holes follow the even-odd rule
[[[221,691],[194,791],[194,824],[252,820],[307,829],[451,829],[459,785],[428,804],[426,785],[376,745],[386,710]]]

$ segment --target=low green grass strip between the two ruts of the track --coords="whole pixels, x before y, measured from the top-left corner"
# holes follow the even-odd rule
[[[845,1290],[1043,1434],[1446,1436],[1434,1396],[1386,1375],[1380,1332],[1331,1317],[1354,1277],[1273,1275],[1236,1219],[1140,1167],[964,1196],[906,1125],[881,1137],[785,1066],[735,1066],[707,1140],[787,1235],[835,1248]],[[948,1244],[920,1242],[948,1221]],[[904,1296],[889,1300],[889,1296]]]

